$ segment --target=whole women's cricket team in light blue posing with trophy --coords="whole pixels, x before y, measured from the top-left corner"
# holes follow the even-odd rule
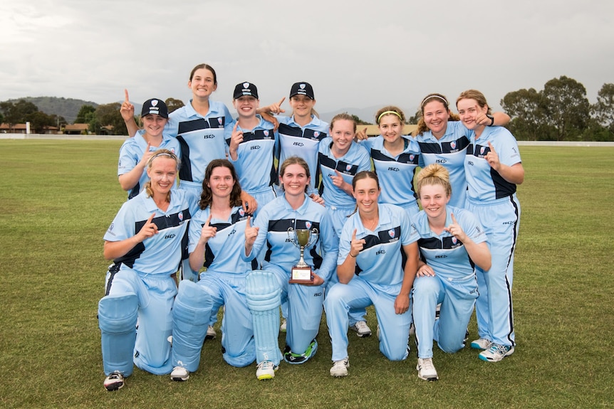
[[[118,179],[128,192],[104,236],[113,260],[98,303],[104,387],[117,391],[134,366],[173,381],[199,369],[205,339],[222,322],[231,366],[256,363],[274,378],[282,361],[316,356],[322,314],[331,376],[348,375],[348,332],[370,336],[392,361],[417,346],[417,375],[439,378],[433,345],[454,353],[476,312],[477,357],[514,353],[512,279],[524,180],[509,116],[467,90],[456,113],[442,94],[405,114],[375,113],[367,137],[348,114],[323,122],[313,87],[294,83],[261,106],[256,85],[234,88],[236,116],[211,100],[217,74],[189,74],[189,104],[142,105],[125,91],[128,139]],[[280,331],[286,333],[279,345]],[[360,368],[360,361],[356,363]]]

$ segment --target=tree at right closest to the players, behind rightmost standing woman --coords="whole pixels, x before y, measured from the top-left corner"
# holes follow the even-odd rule
[[[534,88],[508,92],[501,107],[511,117],[508,128],[519,140],[551,139],[553,128],[547,124],[546,101]]]

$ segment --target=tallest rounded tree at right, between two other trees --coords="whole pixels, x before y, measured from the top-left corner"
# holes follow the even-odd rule
[[[562,75],[543,86],[546,120],[556,129],[556,140],[575,140],[588,126],[590,104],[586,88],[573,78]]]

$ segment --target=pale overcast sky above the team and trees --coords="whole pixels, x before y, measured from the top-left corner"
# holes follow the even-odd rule
[[[469,88],[500,108],[566,75],[593,103],[614,83],[613,21],[611,0],[0,0],[0,101],[105,104],[128,88],[187,102],[189,71],[209,63],[231,112],[244,81],[262,105],[307,81],[330,112],[413,110],[430,92],[453,104]]]

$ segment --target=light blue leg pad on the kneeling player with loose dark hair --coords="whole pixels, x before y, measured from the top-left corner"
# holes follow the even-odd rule
[[[198,369],[200,352],[211,316],[212,299],[202,285],[179,282],[172,307],[172,366]]]

